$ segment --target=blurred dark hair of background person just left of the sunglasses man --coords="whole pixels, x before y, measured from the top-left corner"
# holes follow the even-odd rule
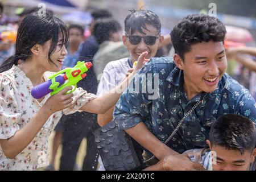
[[[110,39],[111,32],[121,31],[121,26],[117,20],[112,18],[104,18],[96,20],[93,32],[98,44]]]

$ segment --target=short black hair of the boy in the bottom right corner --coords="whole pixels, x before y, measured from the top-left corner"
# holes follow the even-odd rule
[[[228,150],[252,152],[256,145],[256,129],[250,119],[238,114],[226,114],[213,122],[210,143]]]

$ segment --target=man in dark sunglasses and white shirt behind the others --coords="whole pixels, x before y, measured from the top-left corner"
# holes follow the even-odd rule
[[[130,11],[125,19],[125,35],[122,36],[123,44],[127,47],[130,57],[111,61],[104,69],[101,81],[98,85],[97,96],[109,92],[125,78],[126,73],[133,68],[133,64],[145,51],[148,52],[146,59],[156,55],[162,45],[163,36],[160,35],[161,22],[155,13],[147,10]],[[170,42],[170,37],[165,40]],[[98,114],[98,124],[102,127],[113,119],[113,110]],[[101,160],[100,170],[104,170]]]

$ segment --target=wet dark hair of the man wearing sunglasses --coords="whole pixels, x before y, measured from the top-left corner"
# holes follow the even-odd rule
[[[156,28],[158,34],[161,32],[161,22],[155,13],[149,10],[131,10],[130,14],[125,18],[125,32],[133,35],[136,31],[145,34],[142,28],[146,29],[146,24]]]

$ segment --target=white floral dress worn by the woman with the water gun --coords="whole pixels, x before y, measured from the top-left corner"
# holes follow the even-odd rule
[[[44,74],[46,80],[47,76],[49,72]],[[49,98],[48,94],[39,103],[31,96],[32,87],[30,79],[15,65],[0,73],[0,139],[8,139],[22,129]],[[72,109],[52,114],[32,142],[14,159],[8,159],[0,146],[0,170],[35,170],[48,165],[48,138],[61,115],[81,111],[81,106],[96,98],[81,88],[73,94]]]

